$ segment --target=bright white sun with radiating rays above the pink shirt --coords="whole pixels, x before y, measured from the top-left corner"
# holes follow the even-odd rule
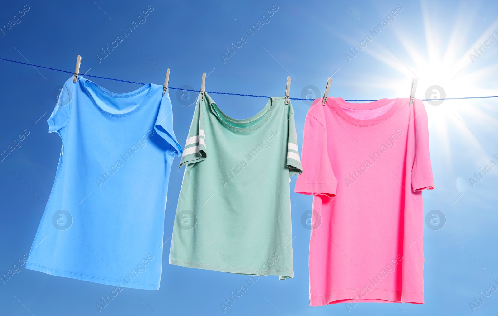
[[[379,47],[377,51],[367,53],[384,63],[386,66],[399,71],[406,76],[406,80],[379,78],[370,79],[370,85],[378,88],[391,87],[392,94],[399,97],[409,96],[411,78],[418,78],[415,97],[417,99],[461,98],[476,96],[498,95],[497,72],[498,63],[490,63],[483,56],[496,56],[498,49],[498,19],[482,32],[477,40],[470,45],[468,11],[461,9],[462,14],[455,20],[455,25],[449,36],[447,46],[443,47],[442,40],[438,38],[438,27],[447,28],[448,25],[431,19],[427,3],[422,2],[422,15],[425,35],[425,45],[416,44],[410,36],[394,29],[396,41],[399,46],[396,51],[404,49],[409,56],[404,54],[401,60],[387,47]],[[476,14],[477,15],[477,14]],[[480,18],[477,15],[477,18]],[[496,41],[496,42],[495,42]],[[495,47],[496,46],[496,47]],[[477,52],[476,52],[477,51]],[[470,57],[473,54],[476,57]],[[497,60],[497,59],[495,59]],[[487,159],[489,154],[485,151],[483,135],[475,134],[477,126],[496,127],[498,120],[489,113],[490,107],[497,107],[498,98],[445,100],[439,105],[434,102],[424,101],[429,116],[432,138],[436,139],[435,146],[442,151],[451,165],[452,142],[465,142],[475,157]],[[492,106],[493,104],[493,106]],[[486,110],[486,112],[484,111]],[[496,116],[495,116],[496,117]],[[489,161],[489,160],[488,160]]]

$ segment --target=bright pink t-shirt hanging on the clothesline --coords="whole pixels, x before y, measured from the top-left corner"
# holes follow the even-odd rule
[[[427,113],[409,98],[317,99],[295,191],[313,194],[310,305],[424,303],[422,190],[433,189]]]

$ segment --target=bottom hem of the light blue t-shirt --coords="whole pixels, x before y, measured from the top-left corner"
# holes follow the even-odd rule
[[[77,280],[82,280],[82,281],[89,281],[89,282],[94,282],[94,283],[119,286],[122,288],[141,289],[141,290],[157,290],[157,291],[159,290],[159,284],[152,285],[152,284],[142,284],[142,283],[130,282],[127,285],[125,285],[124,282],[121,280],[109,280],[109,279],[86,276],[86,275],[71,273],[71,272],[66,272],[66,271],[53,270],[53,269],[43,267],[43,266],[40,266],[40,265],[37,265],[34,263],[30,263],[30,262],[26,263],[25,268],[29,269],[29,270],[33,270],[33,271],[43,272],[43,273],[57,276],[57,277],[65,277],[65,278],[77,279]]]

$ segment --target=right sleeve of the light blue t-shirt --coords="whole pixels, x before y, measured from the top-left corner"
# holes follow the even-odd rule
[[[159,112],[157,113],[154,130],[157,134],[159,134],[159,136],[169,143],[170,148],[168,152],[181,156],[182,148],[180,147],[180,144],[178,144],[173,131],[173,108],[171,106],[171,100],[168,92],[169,91],[166,91],[166,94],[161,99],[161,105],[159,106]]]

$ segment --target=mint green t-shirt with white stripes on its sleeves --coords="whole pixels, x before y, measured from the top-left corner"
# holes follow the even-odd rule
[[[199,96],[183,165],[169,263],[292,278],[289,182],[302,170],[290,101],[236,120]]]

